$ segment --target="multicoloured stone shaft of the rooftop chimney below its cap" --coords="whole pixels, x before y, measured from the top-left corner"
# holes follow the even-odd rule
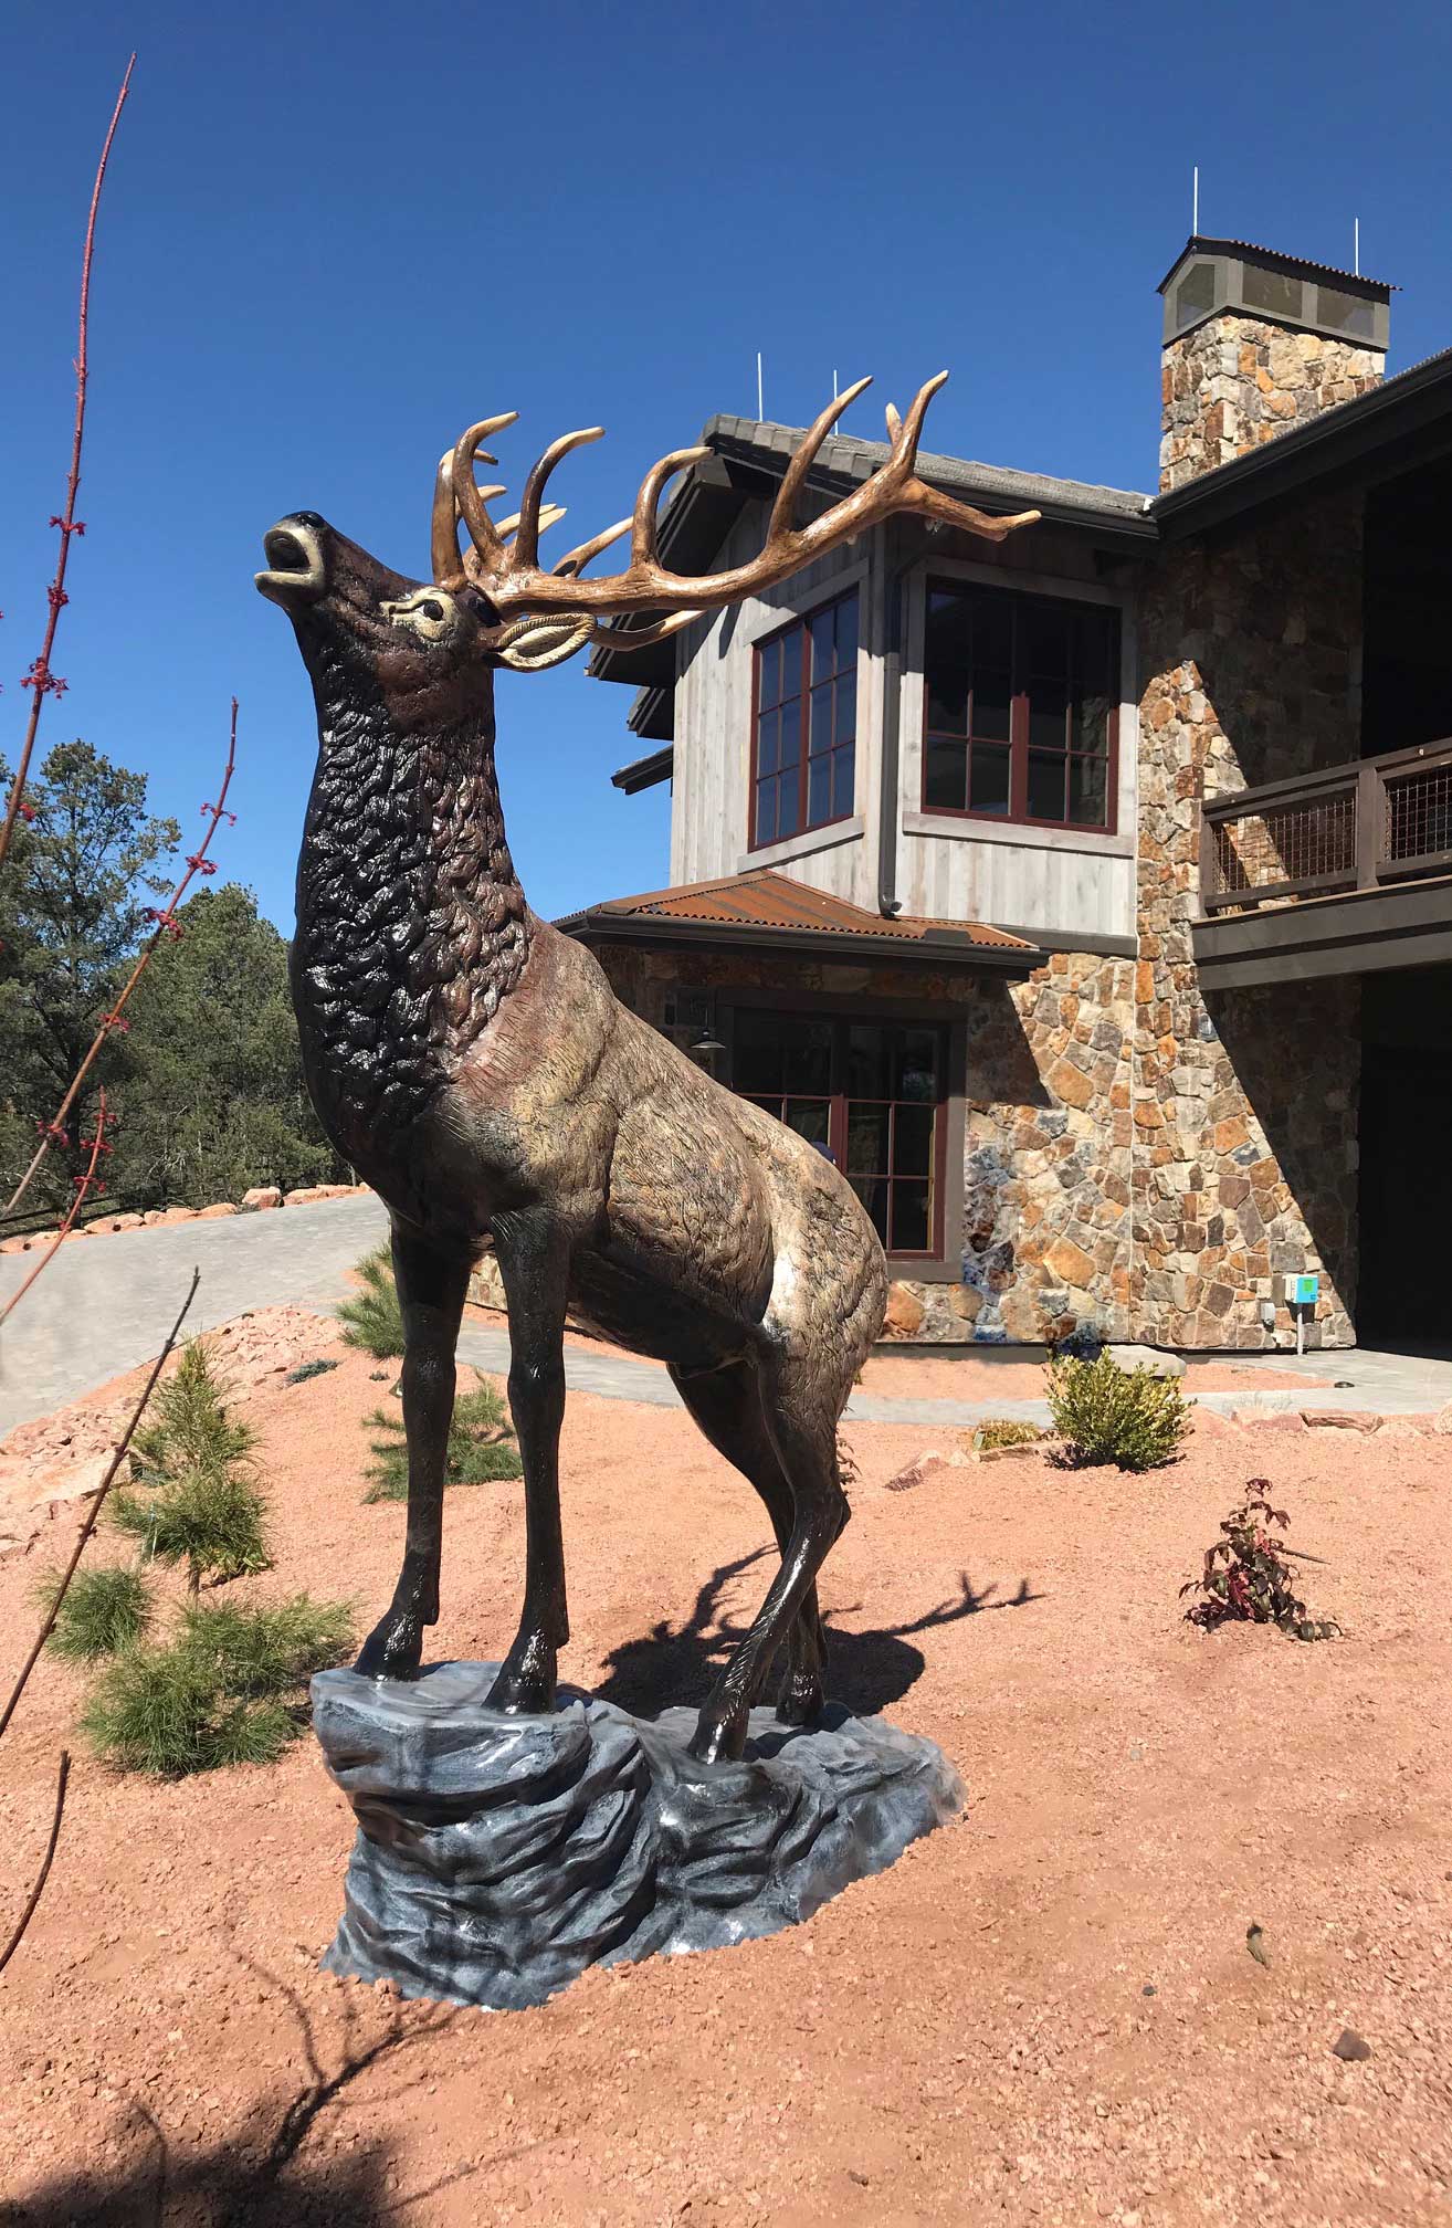
[[[1160,492],[1381,385],[1385,352],[1211,316],[1162,354]]]

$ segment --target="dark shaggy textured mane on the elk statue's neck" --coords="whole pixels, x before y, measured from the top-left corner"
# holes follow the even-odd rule
[[[354,1165],[387,1154],[490,1023],[530,949],[503,831],[492,693],[399,733],[356,664],[316,646],[318,764],[292,983],[314,1098]]]

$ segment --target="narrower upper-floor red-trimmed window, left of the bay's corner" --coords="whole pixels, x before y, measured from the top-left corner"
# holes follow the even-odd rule
[[[857,778],[857,590],[755,653],[750,849],[846,820]]]

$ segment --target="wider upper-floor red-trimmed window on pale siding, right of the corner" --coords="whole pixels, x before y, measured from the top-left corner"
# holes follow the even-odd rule
[[[1113,829],[1120,615],[929,582],[922,807]]]

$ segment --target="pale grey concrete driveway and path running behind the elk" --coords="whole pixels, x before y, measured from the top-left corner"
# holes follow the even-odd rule
[[[36,1290],[7,1323],[0,1346],[0,1435],[36,1415],[49,1415],[96,1384],[149,1361],[183,1303],[192,1268],[203,1281],[192,1303],[192,1330],[243,1315],[247,1308],[298,1306],[327,1312],[347,1292],[347,1270],[387,1234],[376,1199],[332,1199],[314,1208],[238,1214],[214,1223],[171,1223],[122,1230],[116,1237],[62,1245]],[[33,1254],[0,1254],[0,1301],[33,1268]],[[461,1364],[501,1372],[510,1366],[503,1326],[468,1323],[459,1339]],[[993,1368],[1022,1361],[1024,1350],[978,1346],[973,1361]],[[1283,1379],[1272,1390],[1196,1393],[1191,1359],[1185,1390],[1220,1415],[1232,1410],[1356,1408],[1372,1415],[1425,1415],[1452,1401],[1452,1355],[1247,1355],[1247,1368]],[[1225,1366],[1225,1357],[1216,1357]],[[1347,1379],[1307,1384],[1307,1379]],[[604,1399],[679,1406],[668,1375],[650,1361],[568,1346],[566,1379],[577,1393]],[[918,1424],[964,1430],[989,1415],[1047,1424],[1042,1399],[882,1399],[853,1393],[848,1417],[866,1424]]]

